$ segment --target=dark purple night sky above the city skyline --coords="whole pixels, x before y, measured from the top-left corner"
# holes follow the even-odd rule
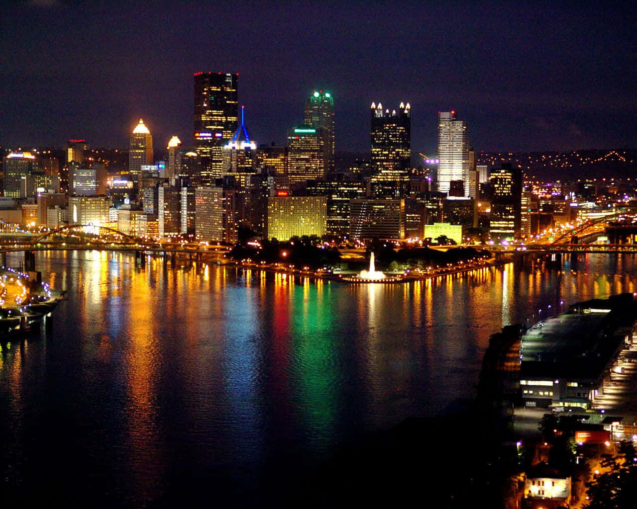
[[[412,104],[436,151],[455,109],[477,150],[637,146],[637,10],[586,2],[13,2],[0,8],[0,144],[192,140],[192,73],[239,73],[258,143],[283,143],[314,88],[336,150],[369,150],[369,106]]]

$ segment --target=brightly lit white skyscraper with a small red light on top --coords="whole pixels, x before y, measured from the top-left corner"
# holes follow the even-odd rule
[[[469,134],[455,111],[438,112],[438,159],[438,190],[448,193],[451,181],[462,180],[469,196]]]

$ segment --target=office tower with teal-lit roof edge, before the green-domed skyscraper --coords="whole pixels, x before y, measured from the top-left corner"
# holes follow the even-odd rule
[[[299,125],[287,135],[287,174],[294,187],[310,179],[325,177],[325,151],[322,130]]]

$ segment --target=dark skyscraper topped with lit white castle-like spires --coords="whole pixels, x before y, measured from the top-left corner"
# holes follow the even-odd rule
[[[396,192],[408,183],[412,157],[412,107],[401,102],[398,112],[371,103],[371,162],[374,181],[396,183]]]

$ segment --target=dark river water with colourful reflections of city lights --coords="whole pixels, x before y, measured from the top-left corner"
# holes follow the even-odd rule
[[[0,497],[60,506],[254,502],[473,397],[502,326],[637,289],[630,255],[368,286],[97,251],[36,263],[68,300],[48,336],[0,342]]]

